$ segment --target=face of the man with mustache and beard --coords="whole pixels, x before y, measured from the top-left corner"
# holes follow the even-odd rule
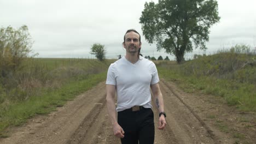
[[[136,53],[139,48],[141,48],[141,43],[139,42],[139,35],[135,32],[129,32],[125,34],[124,48],[126,52]]]

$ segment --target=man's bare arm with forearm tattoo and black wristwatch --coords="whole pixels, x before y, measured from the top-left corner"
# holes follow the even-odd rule
[[[153,93],[153,101],[158,108],[159,113],[164,112],[164,99],[162,98],[162,93],[159,87],[159,83],[155,83],[154,85],[150,85],[152,93]],[[161,115],[159,117],[159,127],[158,129],[164,129],[166,125],[165,116]]]

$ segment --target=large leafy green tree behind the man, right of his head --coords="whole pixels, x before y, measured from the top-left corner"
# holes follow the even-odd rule
[[[206,49],[210,27],[219,19],[215,0],[159,0],[145,3],[139,23],[149,43],[156,42],[158,51],[165,49],[181,63],[193,45]]]

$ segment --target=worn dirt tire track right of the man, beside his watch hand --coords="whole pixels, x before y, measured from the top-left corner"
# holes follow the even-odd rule
[[[167,113],[166,130],[173,131],[177,143],[218,143],[216,137],[208,132],[210,129],[206,128],[206,124],[165,81],[160,82],[160,88]]]

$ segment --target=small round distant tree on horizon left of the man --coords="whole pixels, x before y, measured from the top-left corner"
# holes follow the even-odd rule
[[[92,55],[95,55],[98,60],[103,61],[105,59],[106,50],[104,49],[104,45],[93,44],[91,46],[91,52],[90,53]]]

